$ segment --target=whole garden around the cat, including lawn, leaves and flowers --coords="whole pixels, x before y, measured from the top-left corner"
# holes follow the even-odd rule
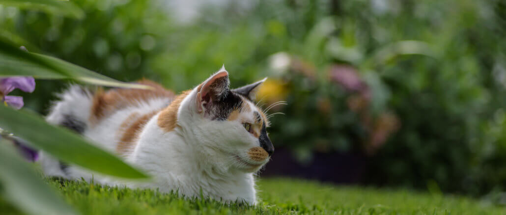
[[[0,0],[0,213],[504,214],[504,29],[500,0]],[[268,77],[257,102],[276,150],[257,205],[48,178],[29,161],[149,177],[49,125],[51,102],[142,78],[179,94],[223,64],[232,88]]]

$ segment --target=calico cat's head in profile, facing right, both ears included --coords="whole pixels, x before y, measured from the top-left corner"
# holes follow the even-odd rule
[[[177,107],[180,103],[177,115],[166,123],[177,126],[207,163],[221,169],[255,172],[274,152],[266,131],[269,121],[254,102],[265,79],[230,89],[228,76],[222,67],[193,90],[184,92],[171,104]]]

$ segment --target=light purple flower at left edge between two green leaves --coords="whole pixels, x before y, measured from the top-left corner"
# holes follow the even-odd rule
[[[7,96],[16,88],[31,93],[35,90],[35,80],[33,77],[23,76],[0,78],[0,100],[6,105],[20,109],[24,105],[23,97]]]

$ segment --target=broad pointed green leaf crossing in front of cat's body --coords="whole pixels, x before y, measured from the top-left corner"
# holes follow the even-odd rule
[[[0,127],[64,162],[115,177],[147,178],[111,153],[69,130],[47,123],[34,113],[0,105]]]

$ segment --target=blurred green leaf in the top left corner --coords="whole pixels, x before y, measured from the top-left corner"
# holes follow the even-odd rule
[[[22,9],[40,10],[52,14],[82,19],[85,12],[69,1],[59,0],[0,0],[0,4]]]

